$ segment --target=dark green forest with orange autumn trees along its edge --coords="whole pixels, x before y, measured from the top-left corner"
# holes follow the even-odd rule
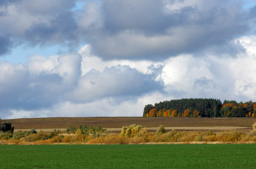
[[[178,99],[148,104],[143,117],[256,117],[256,103],[219,99]]]

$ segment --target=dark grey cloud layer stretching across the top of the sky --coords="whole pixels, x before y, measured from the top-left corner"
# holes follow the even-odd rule
[[[86,42],[103,60],[163,61],[203,56],[206,50],[237,55],[232,39],[253,31],[255,20],[254,8],[245,10],[241,1],[113,0],[74,7],[75,1],[4,1],[0,30],[16,46],[64,45],[74,51]]]

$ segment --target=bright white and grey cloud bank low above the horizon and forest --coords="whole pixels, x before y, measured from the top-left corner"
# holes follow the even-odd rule
[[[237,57],[178,55],[161,63],[104,61],[77,53],[0,64],[2,118],[140,116],[144,105],[181,98],[255,100],[254,35],[235,39]]]

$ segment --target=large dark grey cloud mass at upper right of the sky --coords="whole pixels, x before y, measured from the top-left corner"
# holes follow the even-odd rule
[[[250,30],[241,3],[209,1],[198,7],[189,1],[169,2],[182,6],[164,11],[164,1],[104,1],[104,30],[93,39],[93,50],[104,59],[151,60],[214,46],[233,51],[229,41]]]

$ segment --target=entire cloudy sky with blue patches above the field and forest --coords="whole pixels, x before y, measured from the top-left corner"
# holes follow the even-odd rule
[[[0,117],[140,117],[256,101],[256,2],[1,0]]]

